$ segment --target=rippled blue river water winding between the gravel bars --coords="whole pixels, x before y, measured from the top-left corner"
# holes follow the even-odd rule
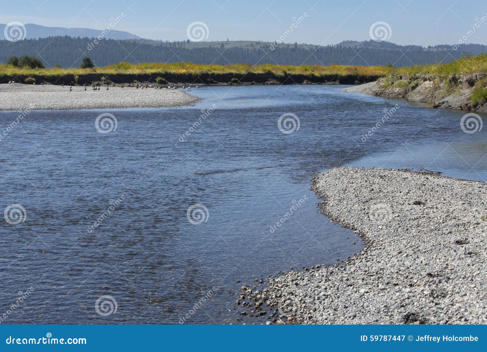
[[[240,286],[362,249],[318,213],[314,173],[354,165],[487,177],[485,130],[463,132],[463,112],[341,88],[208,87],[192,90],[205,98],[194,107],[29,112],[0,141],[0,210],[25,209],[23,222],[0,222],[0,313],[29,291],[2,323],[235,323]],[[104,112],[116,130],[96,130]],[[298,130],[281,132],[285,113]],[[0,112],[0,130],[18,114]],[[189,217],[199,224],[187,217],[195,204],[207,209]],[[116,301],[106,316],[95,309],[105,295]]]

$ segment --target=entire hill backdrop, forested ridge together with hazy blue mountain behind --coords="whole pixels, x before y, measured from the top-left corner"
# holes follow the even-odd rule
[[[0,24],[0,39],[15,33],[5,32]],[[27,23],[20,26],[18,41],[0,40],[0,65],[9,56],[36,56],[46,67],[79,67],[82,55],[90,56],[96,66],[120,61],[192,62],[195,64],[278,64],[278,65],[350,65],[410,66],[413,64],[448,63],[465,54],[487,52],[481,44],[398,45],[387,41],[345,40],[335,45],[272,43],[253,40],[192,42],[189,40],[152,40],[117,30],[45,27]],[[11,27],[13,28],[13,27]],[[94,42],[94,37],[103,39]],[[39,55],[42,53],[42,55]]]

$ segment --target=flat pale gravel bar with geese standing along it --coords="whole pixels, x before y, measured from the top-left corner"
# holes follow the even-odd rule
[[[181,90],[0,84],[0,111],[78,110],[122,108],[174,108],[188,106],[201,98]]]

